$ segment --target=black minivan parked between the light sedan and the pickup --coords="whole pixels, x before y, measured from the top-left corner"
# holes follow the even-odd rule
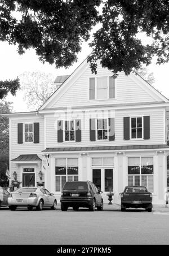
[[[73,207],[78,211],[79,207],[88,208],[90,211],[103,210],[102,191],[98,191],[91,181],[67,181],[61,193],[61,210],[67,211]]]

